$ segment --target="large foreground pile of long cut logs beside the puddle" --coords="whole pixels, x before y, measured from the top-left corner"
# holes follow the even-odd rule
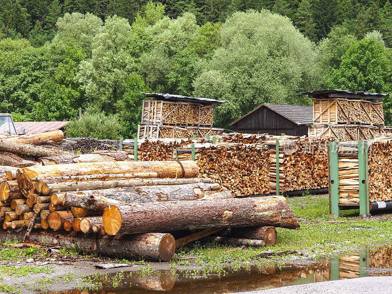
[[[30,242],[76,243],[89,253],[163,261],[172,258],[176,247],[218,232],[224,232],[220,242],[273,245],[276,230],[266,226],[299,227],[284,197],[233,198],[220,184],[197,175],[194,161],[10,170],[0,184],[2,225],[27,227]],[[183,230],[192,233],[175,240],[173,235]]]

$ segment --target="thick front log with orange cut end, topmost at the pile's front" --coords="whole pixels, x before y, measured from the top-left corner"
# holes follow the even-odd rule
[[[103,226],[109,235],[262,225],[299,227],[282,196],[109,206],[103,214]]]

